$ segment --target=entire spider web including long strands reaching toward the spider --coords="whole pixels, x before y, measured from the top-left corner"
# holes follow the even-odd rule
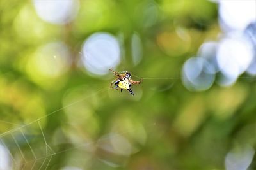
[[[142,78],[139,76],[132,75],[136,78],[140,78],[143,80],[159,80],[159,79],[167,79],[167,80],[180,80],[181,78],[177,77],[155,77],[155,78]],[[253,79],[252,77],[240,77],[241,79]],[[100,92],[105,92],[109,87],[104,87],[103,89],[98,90],[92,95],[99,94]],[[13,124],[12,122],[6,122],[0,120],[0,123],[3,124],[12,124],[17,125],[13,129],[9,131],[3,132],[0,134],[0,145],[8,148],[8,155],[12,159],[12,169],[48,169],[51,167],[52,159],[54,156],[68,152],[70,150],[75,150],[84,146],[92,145],[93,142],[88,143],[77,143],[76,146],[70,146],[69,148],[65,148],[63,150],[58,150],[54,148],[54,144],[50,143],[49,136],[45,135],[45,131],[42,126],[42,120],[53,115],[54,113],[58,113],[65,108],[68,108],[76,103],[84,101],[85,99],[91,97],[86,96],[82,99],[74,101],[73,103],[68,104],[67,106],[63,106],[62,108],[52,111],[43,117],[40,117],[33,122],[29,122],[28,124],[19,125]],[[156,123],[151,123],[150,125],[156,125]],[[31,131],[31,129],[38,129],[37,132]],[[38,146],[38,141],[40,141],[40,146]],[[24,149],[25,148],[25,149]],[[57,151],[58,150],[58,151]],[[0,158],[1,160],[1,158]],[[1,163],[1,162],[0,162]]]

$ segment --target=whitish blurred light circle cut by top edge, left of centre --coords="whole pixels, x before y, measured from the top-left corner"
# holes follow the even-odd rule
[[[79,10],[77,0],[34,0],[37,15],[52,24],[66,24],[72,21]]]

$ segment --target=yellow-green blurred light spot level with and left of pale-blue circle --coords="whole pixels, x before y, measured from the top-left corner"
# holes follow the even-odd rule
[[[33,81],[40,85],[53,85],[67,73],[71,65],[71,53],[62,42],[52,42],[40,46],[28,60],[27,71]],[[58,86],[61,85],[59,80]],[[54,85],[56,85],[54,83]]]

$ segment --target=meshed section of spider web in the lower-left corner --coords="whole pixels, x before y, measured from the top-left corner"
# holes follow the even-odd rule
[[[49,166],[52,155],[56,152],[47,142],[48,139],[42,129],[41,119],[1,134],[0,144],[8,148],[8,155],[13,162],[12,169],[47,169]],[[30,134],[29,129],[33,129],[31,126],[37,126],[40,133]],[[43,145],[35,146],[34,142],[36,141],[43,141]],[[44,155],[44,159],[38,155]]]

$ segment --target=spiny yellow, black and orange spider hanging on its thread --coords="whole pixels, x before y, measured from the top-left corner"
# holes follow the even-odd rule
[[[121,73],[117,73],[116,71],[113,71],[112,69],[109,69],[109,71],[112,71],[113,74],[115,74],[116,79],[114,81],[112,81],[110,87],[112,89],[116,89],[119,90],[121,89],[121,92],[123,89],[128,90],[132,95],[134,95],[134,93],[132,92],[131,86],[135,85],[135,84],[140,84],[142,82],[142,80],[140,81],[134,81],[131,79],[131,73],[129,73],[128,71],[123,71]],[[113,87],[113,83],[114,85],[116,85],[115,87]]]

